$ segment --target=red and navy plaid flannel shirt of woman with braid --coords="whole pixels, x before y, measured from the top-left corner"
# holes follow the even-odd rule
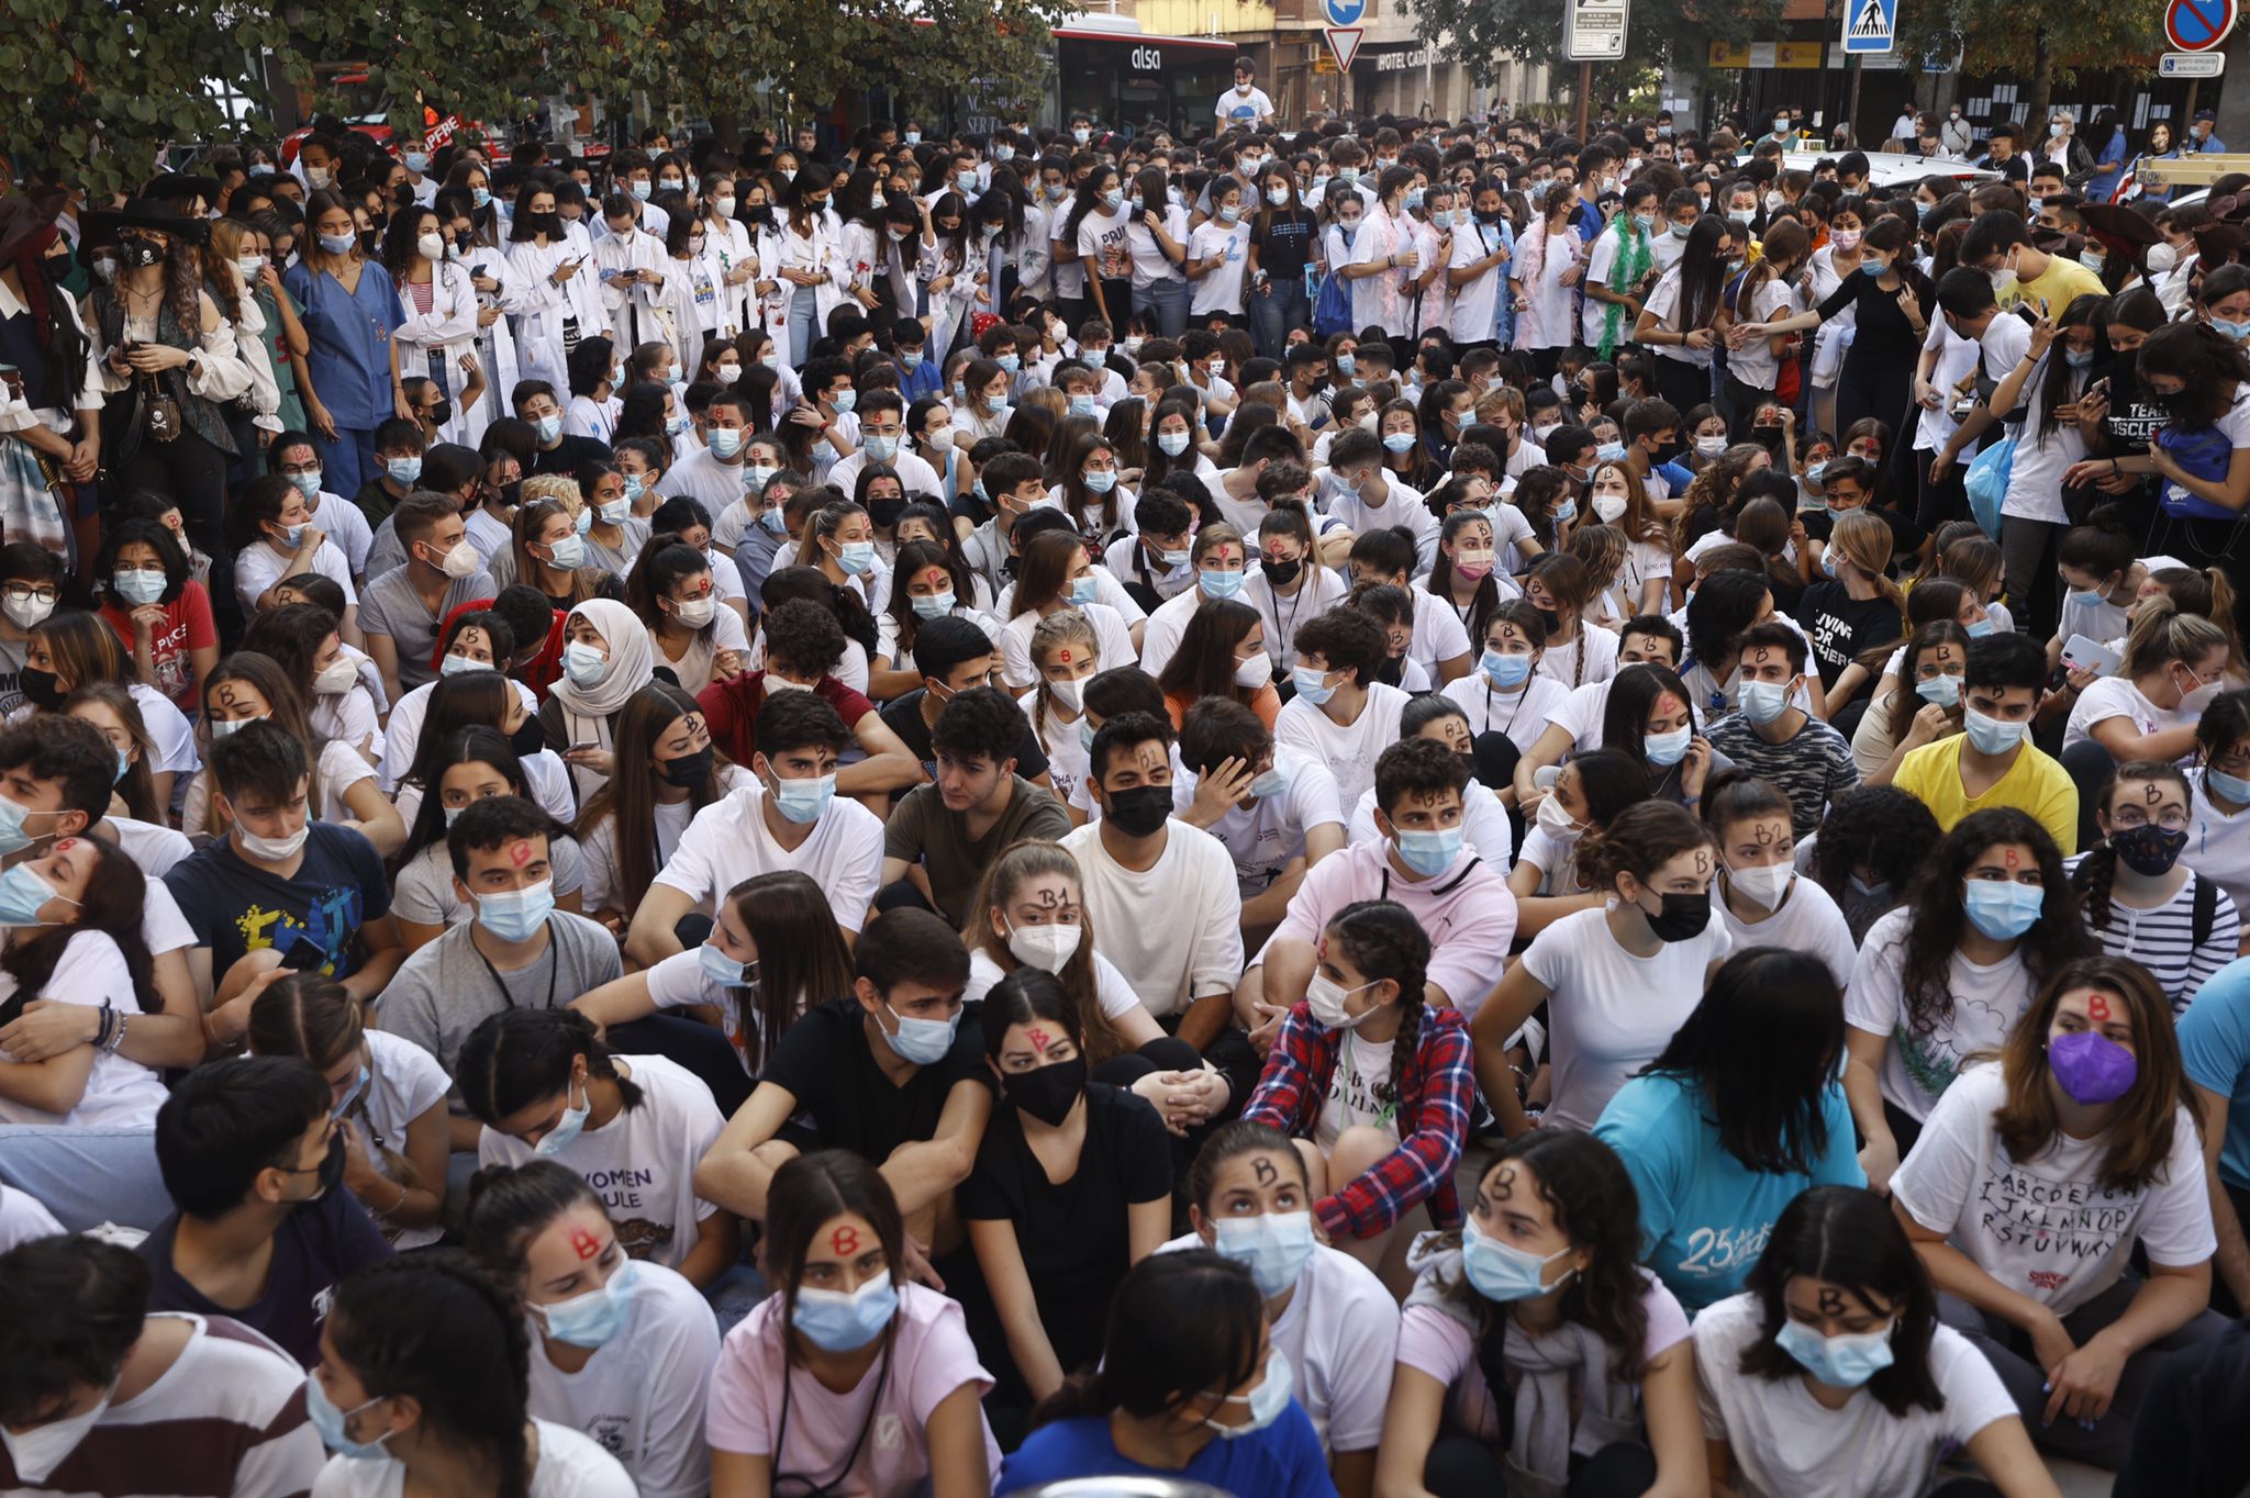
[[[1346,1035],[1316,1021],[1305,1003],[1289,1010],[1242,1116],[1274,1125],[1282,1134],[1312,1134],[1321,1122]],[[1460,1226],[1454,1167],[1469,1138],[1474,1104],[1469,1023],[1460,1010],[1424,1008],[1395,1100],[1400,1147],[1368,1174],[1314,1203],[1328,1235],[1372,1237],[1397,1224],[1418,1201],[1429,1201],[1429,1217],[1438,1228]]]

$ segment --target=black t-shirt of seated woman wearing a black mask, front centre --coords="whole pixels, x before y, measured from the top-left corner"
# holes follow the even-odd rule
[[[1064,1368],[1078,1368],[1100,1356],[1109,1293],[1132,1269],[1125,1208],[1170,1192],[1172,1149],[1156,1109],[1089,1082],[1087,1143],[1071,1179],[1046,1179],[1022,1113],[1001,1102],[961,1185],[961,1215],[1015,1224],[1046,1338]]]

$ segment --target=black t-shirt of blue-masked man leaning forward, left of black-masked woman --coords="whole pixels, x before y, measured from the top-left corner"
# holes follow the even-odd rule
[[[900,1145],[938,1134],[938,1116],[945,1113],[954,1082],[990,1086],[992,1071],[983,1064],[976,1005],[963,1010],[945,1059],[918,1066],[904,1086],[893,1084],[875,1064],[862,1014],[857,999],[812,1005],[781,1037],[758,1080],[796,1098],[821,1149],[850,1149],[880,1165]]]

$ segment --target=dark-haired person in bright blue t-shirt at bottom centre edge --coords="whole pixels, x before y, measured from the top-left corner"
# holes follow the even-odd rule
[[[1152,1253],[1109,1305],[1096,1368],[1033,1410],[994,1491],[1172,1478],[1235,1498],[1336,1498],[1251,1271],[1208,1248]]]

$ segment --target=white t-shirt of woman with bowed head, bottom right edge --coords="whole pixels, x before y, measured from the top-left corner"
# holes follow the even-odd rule
[[[1728,1296],[1703,1307],[1692,1327],[1703,1435],[1732,1446],[1742,1498],[1922,1494],[1946,1451],[2016,1417],[2000,1374],[1946,1325],[1930,1338],[1942,1410],[1912,1406],[1892,1415],[1865,1390],[1832,1410],[1800,1377],[1768,1381],[1742,1372],[1742,1354],[1764,1336],[1764,1316],[1757,1296]]]

